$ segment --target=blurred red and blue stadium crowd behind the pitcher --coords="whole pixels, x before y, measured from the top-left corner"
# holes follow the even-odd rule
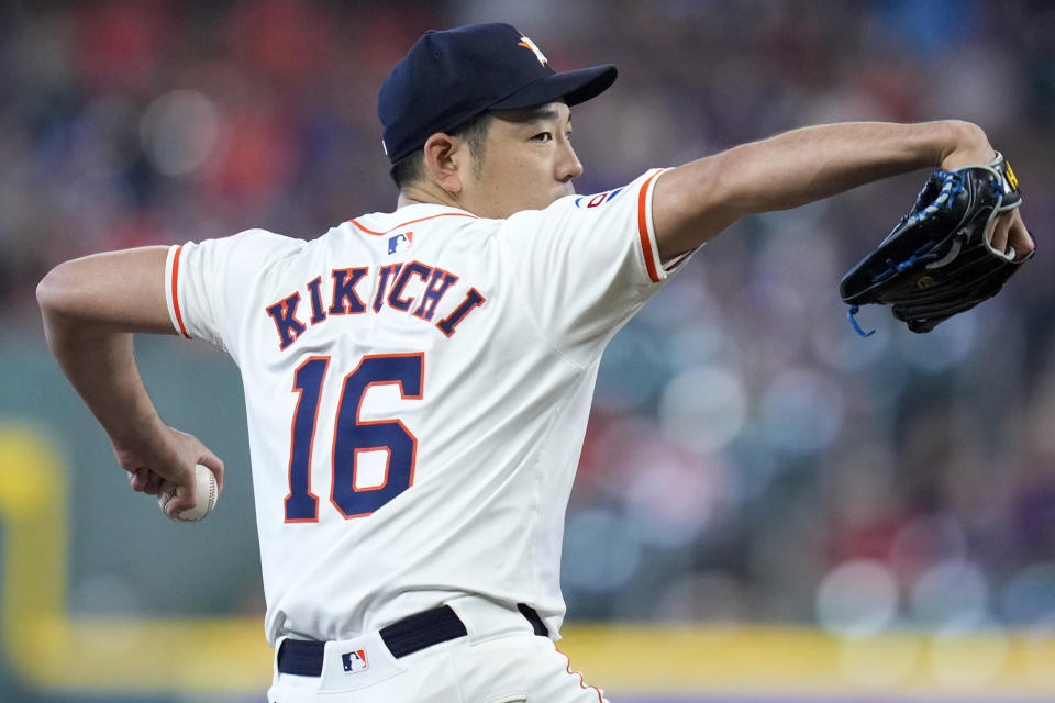
[[[421,32],[507,19],[558,69],[579,192],[804,124],[958,116],[1009,155],[1039,255],[998,299],[858,338],[841,274],[922,174],[752,217],[621,332],[568,512],[576,620],[1055,628],[1055,5],[321,0],[0,5],[0,306],[60,260],[395,205],[375,114]],[[174,348],[173,354],[187,353]],[[208,442],[208,439],[207,439]]]

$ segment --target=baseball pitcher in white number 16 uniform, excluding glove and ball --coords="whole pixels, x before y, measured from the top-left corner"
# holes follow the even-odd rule
[[[41,282],[62,368],[132,487],[178,487],[169,516],[195,505],[197,464],[221,486],[223,464],[158,417],[132,333],[237,364],[270,702],[603,702],[554,641],[607,343],[744,215],[995,158],[965,122],[846,123],[576,194],[570,108],[615,72],[556,72],[508,24],[430,32],[379,94],[395,211],[311,241],[247,230],[100,254]],[[1019,209],[988,237],[1033,248]]]

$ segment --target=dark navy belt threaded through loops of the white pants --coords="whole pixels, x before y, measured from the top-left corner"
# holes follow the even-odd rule
[[[524,603],[517,610],[531,623],[536,635],[548,637],[546,625],[538,612]],[[449,605],[441,605],[392,623],[380,631],[381,640],[392,656],[399,659],[425,647],[457,639],[468,634],[465,623]],[[314,639],[286,639],[278,650],[278,670],[299,677],[322,676],[322,660],[326,643]]]

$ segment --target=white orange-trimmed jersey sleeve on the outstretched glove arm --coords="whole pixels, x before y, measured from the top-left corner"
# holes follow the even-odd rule
[[[652,194],[663,171],[507,221],[501,246],[525,304],[549,342],[577,364],[599,354],[691,254],[660,263]]]

